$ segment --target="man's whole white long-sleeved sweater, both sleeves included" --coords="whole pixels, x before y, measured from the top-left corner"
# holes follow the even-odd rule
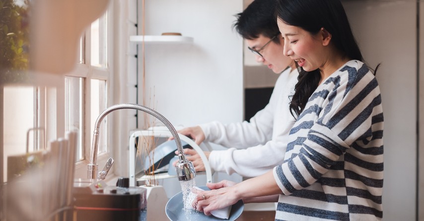
[[[288,105],[297,76],[297,70],[290,68],[280,74],[270,102],[250,119],[250,123],[224,125],[215,121],[200,125],[206,141],[229,147],[213,150],[209,155],[214,171],[254,177],[283,162],[286,138],[295,121]]]

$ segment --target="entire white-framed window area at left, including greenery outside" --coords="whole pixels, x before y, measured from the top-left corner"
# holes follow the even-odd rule
[[[23,156],[26,152],[48,148],[49,141],[63,138],[65,132],[71,130],[78,132],[75,178],[87,178],[94,123],[107,107],[108,95],[112,94],[109,87],[112,79],[109,58],[112,56],[108,55],[111,52],[113,40],[110,37],[113,31],[113,22],[110,21],[112,7],[113,4],[110,4],[107,12],[94,21],[81,35],[78,46],[80,52],[72,72],[65,76],[37,74],[38,80],[48,82],[46,83],[48,86],[19,83],[24,80],[19,73],[14,72],[25,72],[27,68],[26,49],[29,48],[29,40],[28,36],[21,36],[21,34],[28,35],[28,30],[12,29],[15,27],[11,25],[14,24],[13,22],[21,24],[19,17],[1,20],[0,26],[2,22],[5,22],[9,32],[19,33],[19,35],[7,35],[8,38],[16,41],[13,44],[7,41],[7,44],[2,47],[4,50],[10,48],[8,55],[12,55],[12,52],[17,53],[16,56],[7,59],[10,64],[5,67],[6,75],[2,75],[2,80],[6,79],[7,84],[0,82],[0,115],[3,118],[0,123],[4,129],[1,131],[3,144],[2,149],[0,148],[2,153],[0,154],[0,178],[3,182],[7,182],[7,177],[13,175],[8,173],[8,170],[13,169],[13,166],[7,166],[8,157]],[[23,9],[26,10],[26,8]],[[13,13],[16,16],[19,14],[28,13]],[[22,62],[24,64],[21,64]],[[0,71],[3,70],[2,66]],[[110,139],[107,134],[107,121],[108,119],[105,118],[101,122],[97,156],[99,165],[104,164],[111,151],[106,145]],[[101,166],[99,168],[101,169]]]

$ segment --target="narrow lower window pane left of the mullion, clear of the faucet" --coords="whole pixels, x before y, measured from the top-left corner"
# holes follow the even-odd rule
[[[84,159],[85,78],[65,77],[65,130],[78,132],[76,161]]]

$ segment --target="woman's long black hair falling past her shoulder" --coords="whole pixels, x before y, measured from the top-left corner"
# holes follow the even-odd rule
[[[300,27],[312,35],[324,28],[332,35],[331,43],[343,56],[365,63],[340,0],[277,1],[276,15],[278,19],[288,25]],[[290,112],[293,116],[294,114],[299,116],[303,111],[320,81],[318,69],[306,72],[301,67],[297,68],[299,70],[298,82],[290,102]]]

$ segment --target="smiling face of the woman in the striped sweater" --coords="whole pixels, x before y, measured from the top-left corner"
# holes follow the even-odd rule
[[[293,59],[303,70],[310,72],[322,68],[326,62],[326,51],[321,32],[311,35],[304,29],[277,21],[284,39],[284,55]]]

